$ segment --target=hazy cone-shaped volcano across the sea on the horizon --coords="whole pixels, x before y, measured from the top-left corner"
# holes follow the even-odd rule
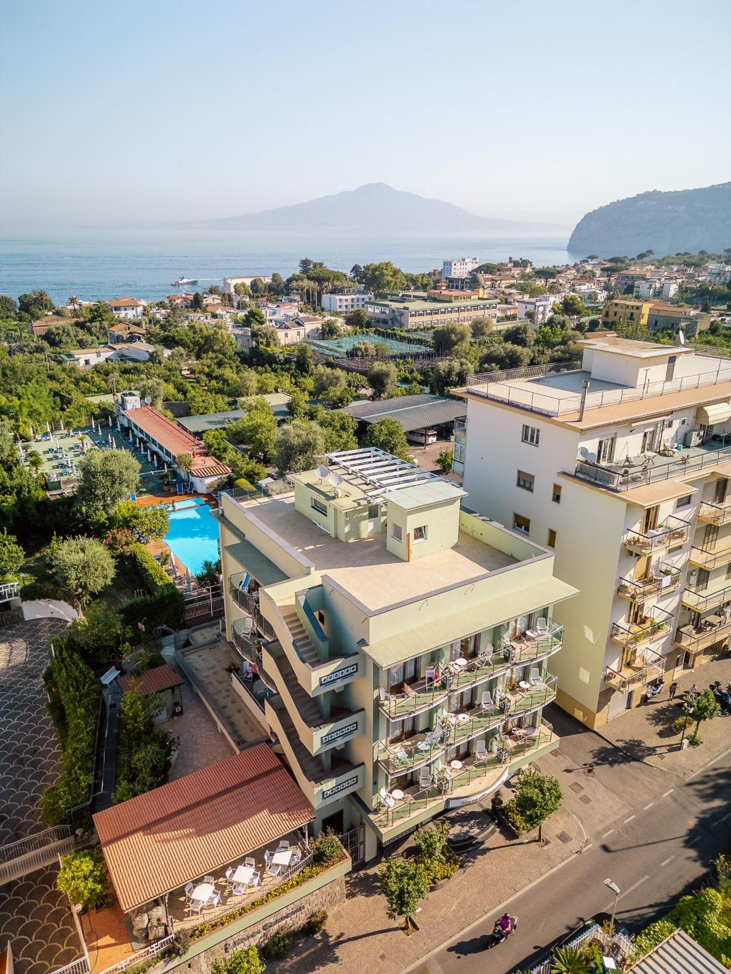
[[[461,206],[404,193],[386,183],[366,183],[358,189],[321,196],[307,203],[207,220],[206,226],[237,230],[337,230],[340,233],[355,230],[374,231],[379,235],[411,231],[556,229],[556,224],[476,216]]]

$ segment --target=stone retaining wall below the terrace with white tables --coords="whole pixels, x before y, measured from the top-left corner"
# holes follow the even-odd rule
[[[285,927],[294,930],[301,926],[304,921],[318,910],[325,910],[330,913],[338,904],[345,901],[345,877],[339,876],[331,880],[326,885],[321,886],[312,893],[308,893],[301,899],[291,903],[283,910],[273,913],[271,916],[252,924],[246,930],[232,934],[226,940],[220,941],[214,947],[203,951],[194,957],[188,955],[179,963],[169,960],[162,968],[166,974],[175,968],[186,968],[191,974],[209,974],[213,958],[220,955],[228,955],[236,949],[243,947],[260,947],[277,930]]]

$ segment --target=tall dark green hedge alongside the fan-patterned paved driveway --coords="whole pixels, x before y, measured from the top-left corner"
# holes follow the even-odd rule
[[[60,825],[67,821],[66,812],[88,802],[92,793],[100,691],[67,636],[57,636],[52,645],[44,679],[61,745],[61,769],[58,781],[43,794],[41,817],[48,825]]]

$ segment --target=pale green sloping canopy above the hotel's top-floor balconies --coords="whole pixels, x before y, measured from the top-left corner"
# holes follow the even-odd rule
[[[363,646],[362,650],[380,667],[395,666],[406,659],[446,646],[456,639],[473,635],[483,629],[491,629],[501,622],[527,615],[543,609],[544,606],[562,602],[563,599],[578,594],[578,591],[573,585],[552,577],[483,602],[454,616],[435,619],[415,629],[389,636],[371,646]]]

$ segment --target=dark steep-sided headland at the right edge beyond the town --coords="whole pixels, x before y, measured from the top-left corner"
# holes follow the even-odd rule
[[[654,250],[658,256],[682,250],[720,252],[727,246],[731,182],[674,193],[653,190],[599,206],[579,220],[568,242],[572,254],[599,257],[643,250]]]

